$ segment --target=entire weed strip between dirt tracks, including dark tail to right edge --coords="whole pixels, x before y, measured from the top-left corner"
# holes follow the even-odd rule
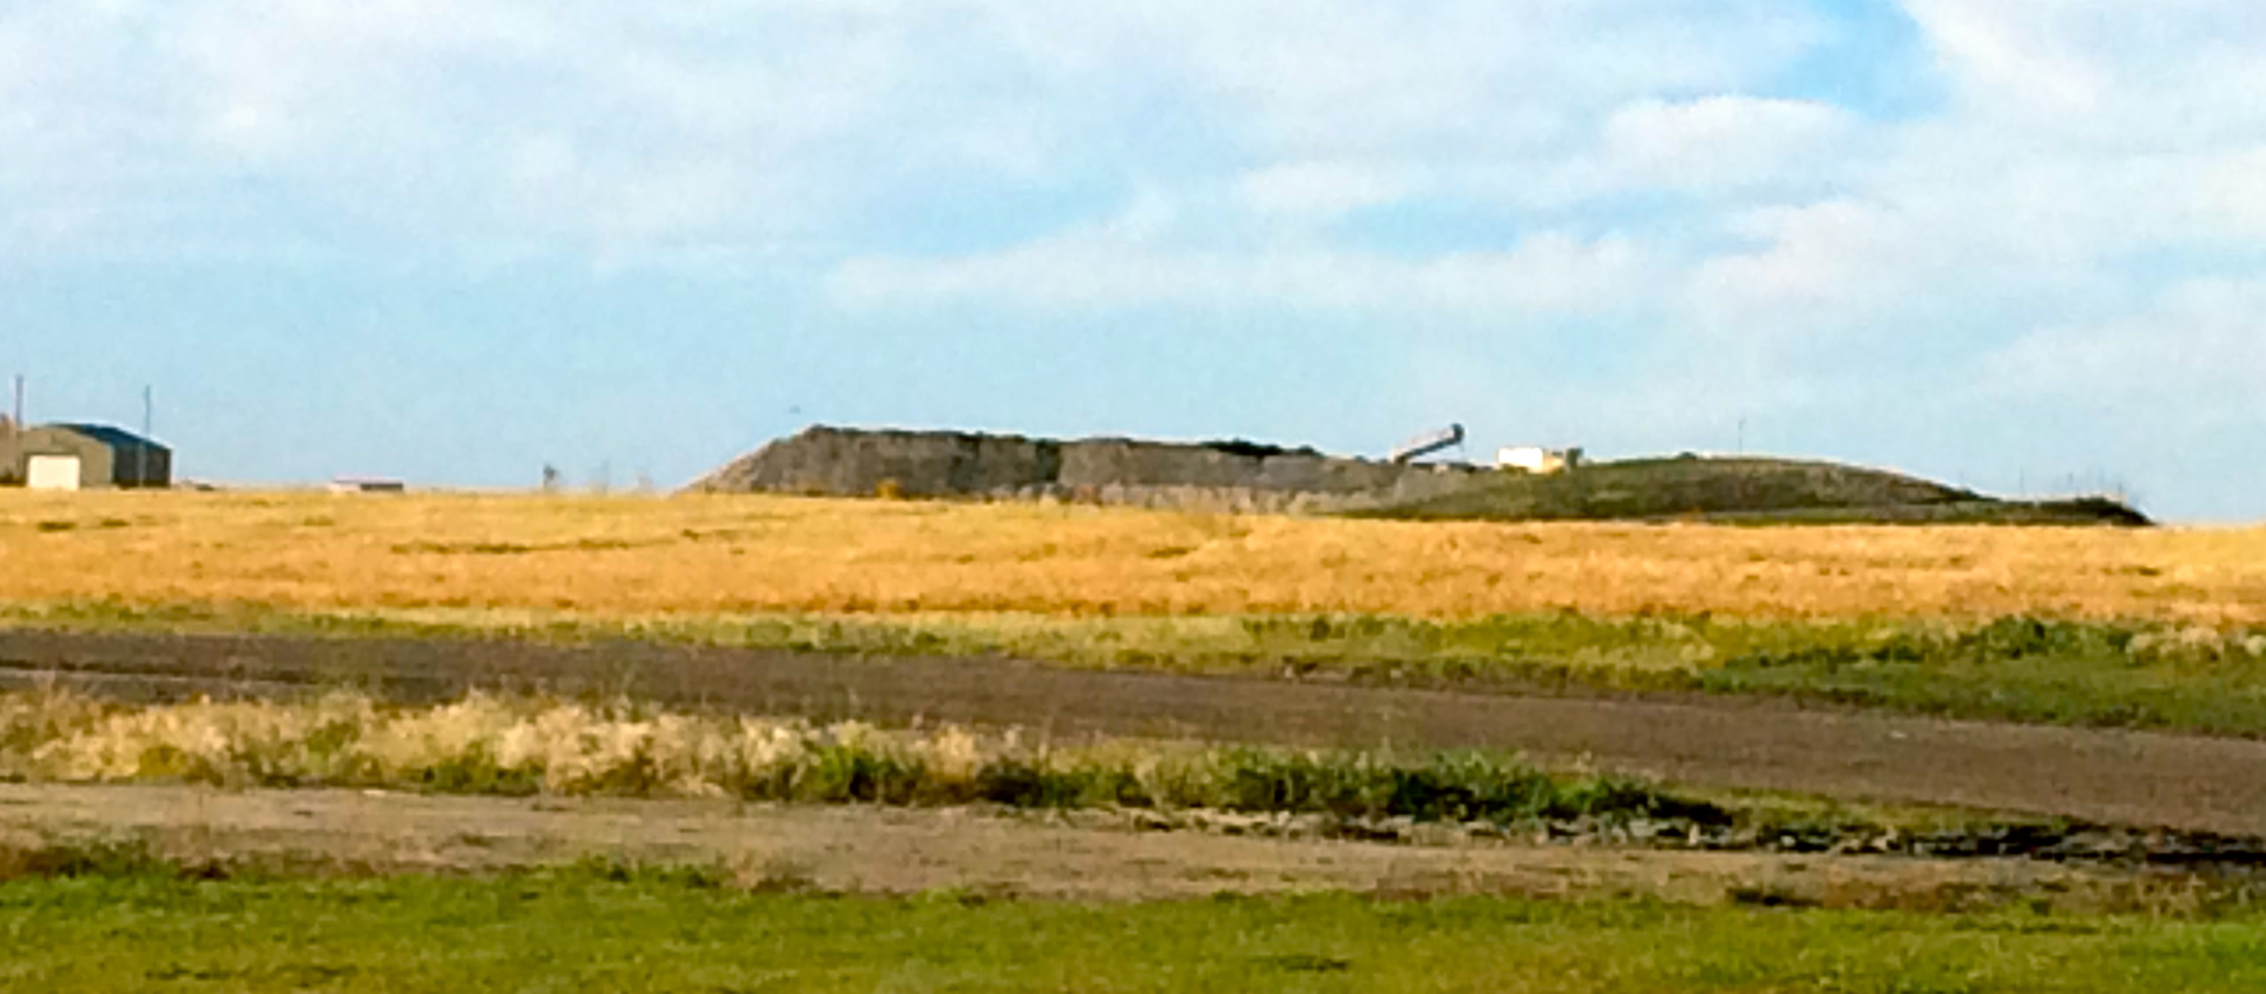
[[[1897,824],[1824,806],[1727,804],[1620,777],[1557,777],[1486,752],[1058,747],[1020,731],[818,727],[489,695],[431,709],[360,695],[172,706],[0,695],[0,777],[1140,808],[1158,813],[1165,829],[1201,824],[1190,813],[1228,813],[1260,817],[1235,831],[1382,840],[1453,824],[1477,836],[1688,849],[2266,865],[2266,840],[2252,838],[1980,817]]]

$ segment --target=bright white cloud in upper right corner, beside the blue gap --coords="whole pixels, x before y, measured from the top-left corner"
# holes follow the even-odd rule
[[[1695,331],[1971,353],[2144,303],[2162,276],[2137,260],[2266,238],[2266,23],[2243,5],[1906,7],[1951,102],[1792,156],[1831,170],[1817,199],[1718,213],[1736,242],[1681,288]]]

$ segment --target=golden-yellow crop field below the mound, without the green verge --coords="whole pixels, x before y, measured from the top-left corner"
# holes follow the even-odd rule
[[[5,494],[0,600],[2266,620],[2266,530],[1493,525],[804,498]]]

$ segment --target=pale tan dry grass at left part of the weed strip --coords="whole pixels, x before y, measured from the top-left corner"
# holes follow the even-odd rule
[[[859,722],[696,718],[634,706],[469,695],[383,709],[360,695],[304,704],[97,704],[0,695],[0,772],[52,781],[392,786],[478,792],[861,799],[866,770],[965,770],[995,745],[965,731],[881,734]],[[827,774],[850,768],[845,781]],[[965,777],[961,777],[965,779]],[[940,777],[938,783],[952,783]]]

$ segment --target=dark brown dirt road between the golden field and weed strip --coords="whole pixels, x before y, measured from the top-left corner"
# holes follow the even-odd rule
[[[0,686],[174,700],[360,686],[632,695],[818,720],[1346,747],[1523,749],[1677,783],[2266,836],[2266,743],[1942,722],[1781,702],[1564,700],[671,645],[0,632]]]

